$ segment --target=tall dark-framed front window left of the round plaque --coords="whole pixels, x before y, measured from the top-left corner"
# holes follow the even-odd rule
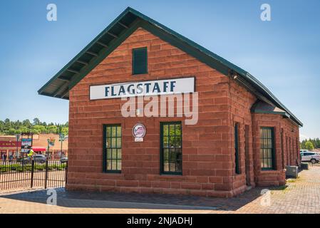
[[[104,172],[121,172],[122,132],[121,125],[103,126],[103,170]]]

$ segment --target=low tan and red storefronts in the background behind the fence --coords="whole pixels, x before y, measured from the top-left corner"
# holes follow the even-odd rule
[[[54,145],[48,147],[48,140],[53,141]],[[17,147],[18,146],[18,147]],[[60,159],[62,156],[68,155],[68,140],[62,142],[61,150],[61,141],[59,141],[59,135],[56,134],[40,134],[33,135],[32,149],[38,154],[48,154],[49,159]],[[6,160],[9,160],[9,157],[17,157],[17,152],[19,156],[21,155],[21,138],[19,142],[16,141],[15,135],[0,135],[0,160],[6,157]],[[23,155],[24,156],[24,155]]]

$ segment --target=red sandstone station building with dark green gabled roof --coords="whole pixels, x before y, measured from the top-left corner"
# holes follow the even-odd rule
[[[177,115],[123,117],[127,100],[116,86],[174,79],[171,89],[189,89],[180,78],[195,79],[195,125]],[[262,83],[134,9],[38,93],[69,100],[68,190],[232,197],[248,186],[284,185],[285,167],[300,162],[302,123]],[[143,142],[133,137],[137,123]]]

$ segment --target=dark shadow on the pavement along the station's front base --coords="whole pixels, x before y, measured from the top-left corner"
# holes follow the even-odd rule
[[[194,209],[235,211],[260,197],[262,187],[256,187],[244,194],[229,199],[197,197],[188,195],[160,195],[119,192],[84,192],[55,189],[57,206],[86,208],[135,208],[135,209]],[[272,188],[270,188],[272,190]],[[277,189],[274,189],[277,190]],[[46,204],[49,195],[46,190],[19,192],[0,195],[0,198]]]

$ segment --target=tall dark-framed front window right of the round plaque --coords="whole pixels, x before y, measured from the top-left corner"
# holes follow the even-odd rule
[[[182,175],[182,125],[181,122],[160,124],[161,173]]]

